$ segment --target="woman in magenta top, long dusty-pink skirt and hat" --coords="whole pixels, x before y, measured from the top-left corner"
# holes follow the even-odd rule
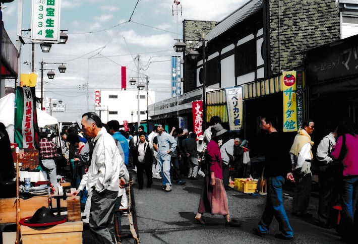
[[[211,128],[212,137],[207,147],[204,186],[202,189],[198,213],[194,223],[205,225],[203,213],[221,214],[227,227],[240,227],[241,222],[230,218],[227,196],[222,182],[222,164],[218,141],[227,132],[220,124]]]

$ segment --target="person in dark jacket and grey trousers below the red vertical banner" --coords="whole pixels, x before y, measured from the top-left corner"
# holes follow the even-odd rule
[[[189,179],[196,179],[198,174],[198,147],[197,147],[197,134],[191,133],[190,137],[185,140],[184,146],[184,153],[187,154],[188,157],[188,167],[189,167]]]

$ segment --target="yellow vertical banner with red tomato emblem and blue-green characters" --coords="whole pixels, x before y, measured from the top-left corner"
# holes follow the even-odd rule
[[[283,132],[296,132],[298,130],[296,71],[282,72],[281,85],[283,88]]]

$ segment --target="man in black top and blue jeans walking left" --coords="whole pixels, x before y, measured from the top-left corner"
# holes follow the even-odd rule
[[[283,136],[276,130],[276,118],[265,116],[261,119],[260,128],[267,131],[268,137],[265,142],[265,168],[264,176],[267,182],[267,198],[264,213],[262,214],[258,228],[253,231],[256,235],[265,236],[269,230],[273,216],[278,222],[281,233],[275,234],[275,238],[292,240],[293,230],[288,222],[286,211],[283,208],[282,185],[284,177],[294,181],[290,162],[283,160]]]

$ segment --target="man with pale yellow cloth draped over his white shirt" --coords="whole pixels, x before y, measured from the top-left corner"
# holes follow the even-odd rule
[[[312,217],[312,214],[307,212],[307,208],[311,197],[311,162],[313,159],[311,151],[313,142],[310,135],[315,130],[315,123],[307,119],[303,121],[302,127],[303,129],[297,131],[289,151],[295,181],[292,215]]]

